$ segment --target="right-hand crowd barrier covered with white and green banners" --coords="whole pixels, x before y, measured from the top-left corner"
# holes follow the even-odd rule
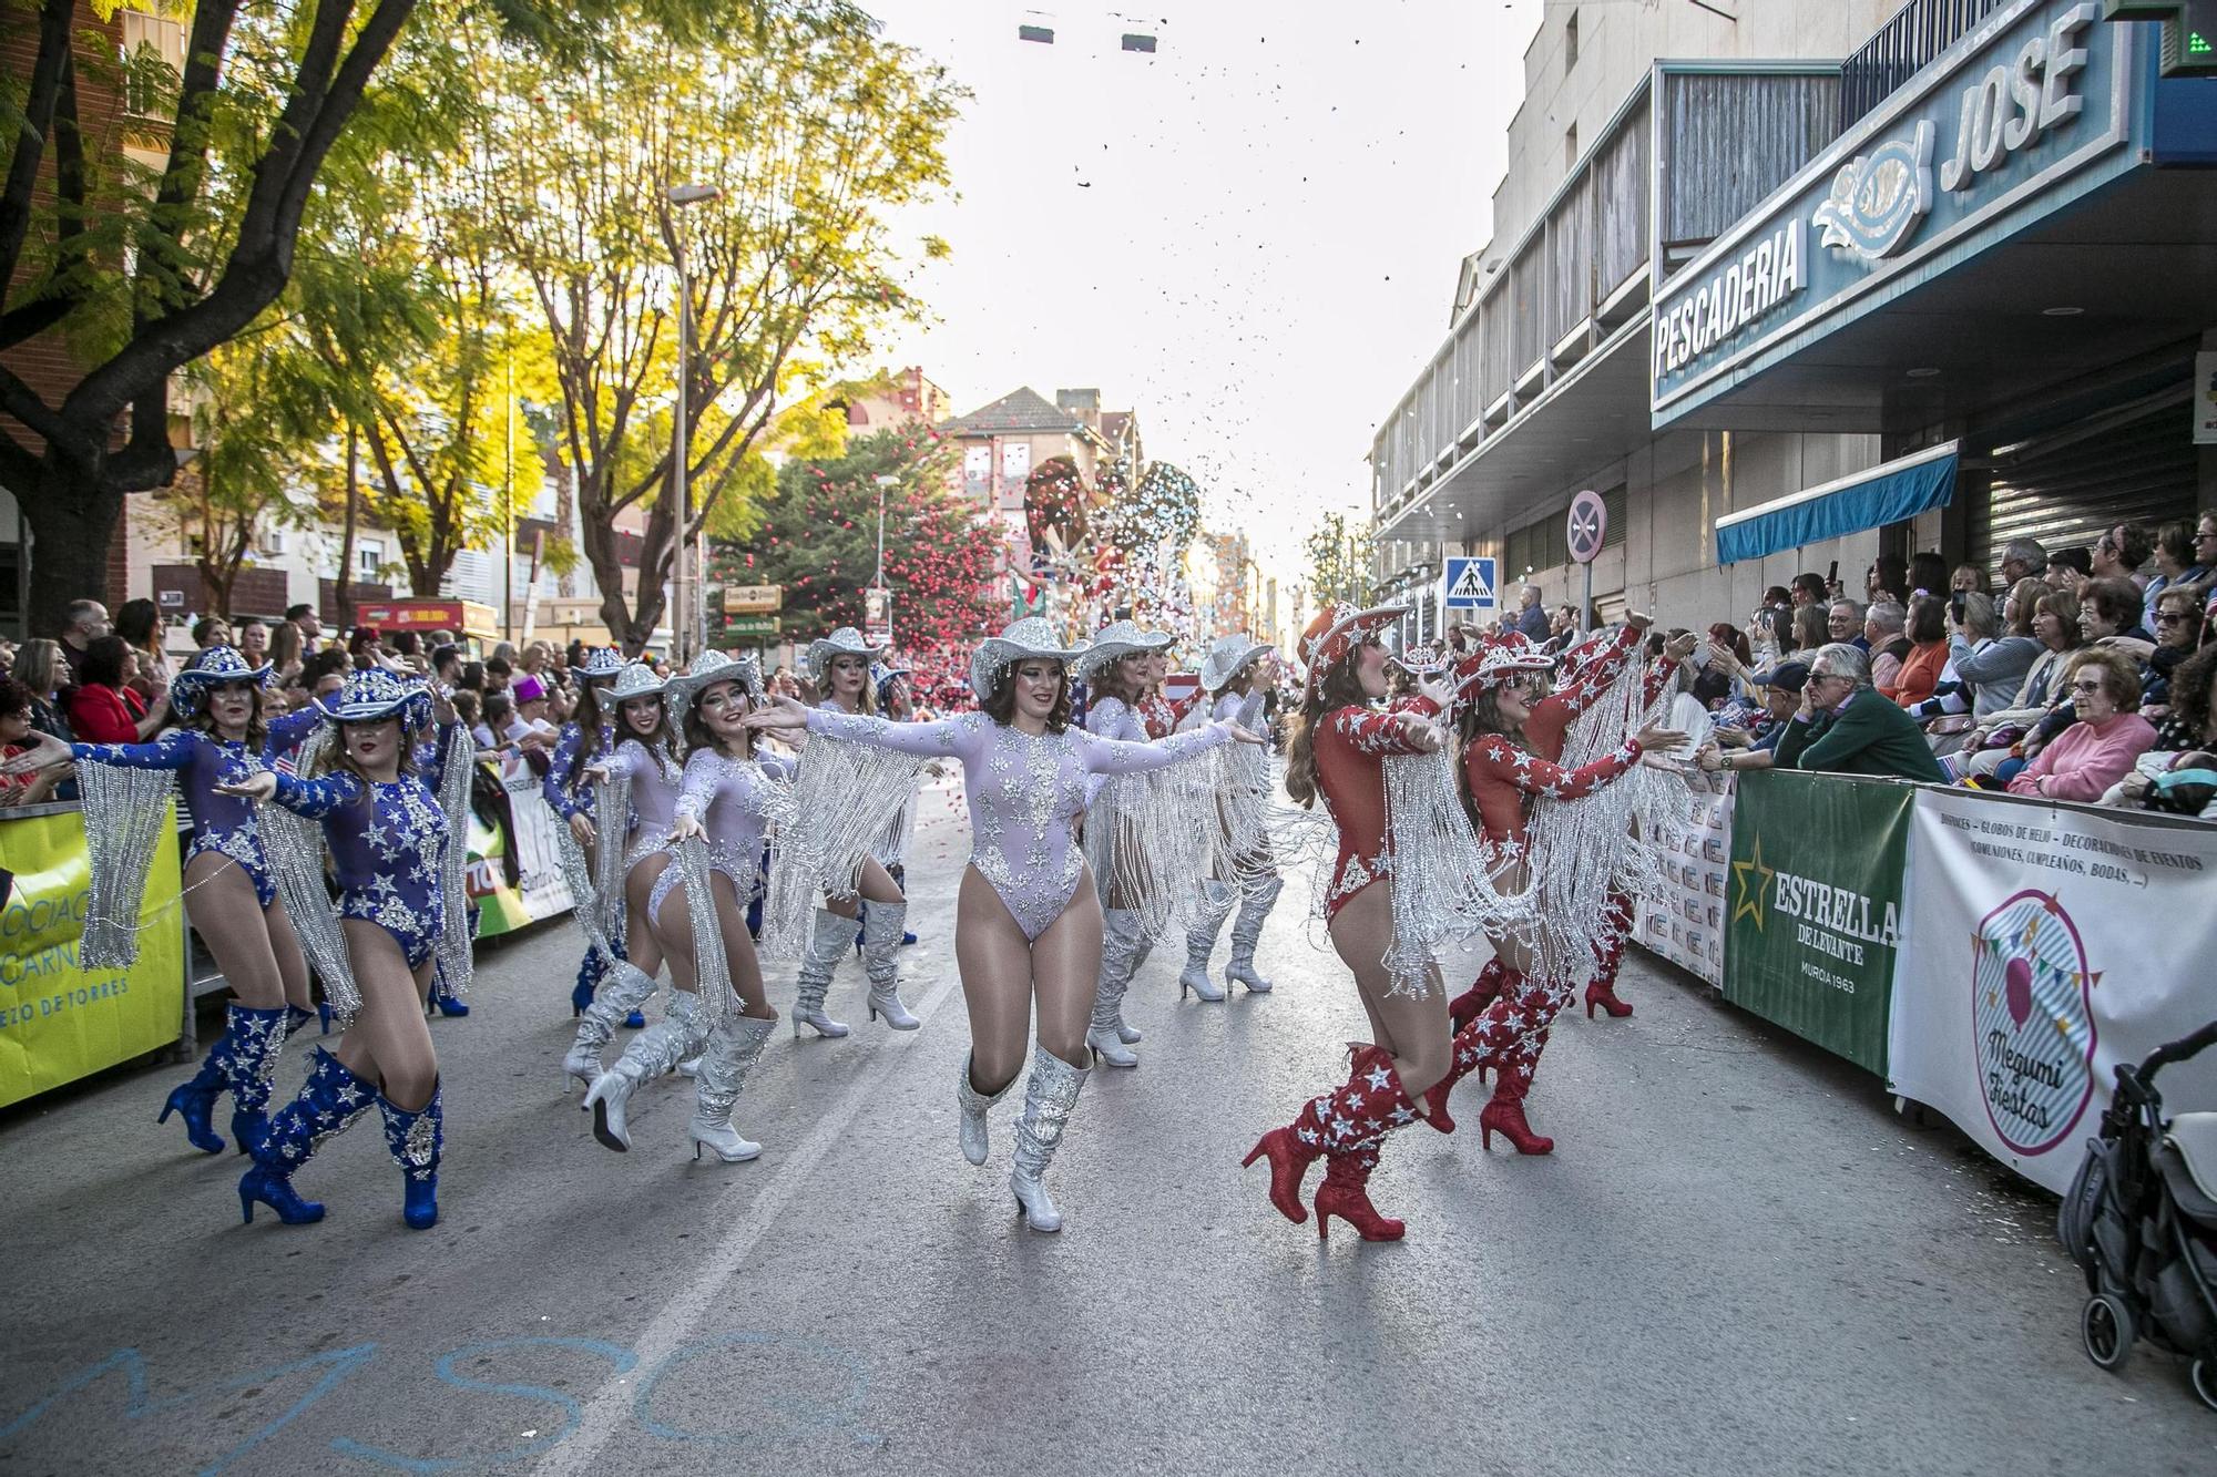
[[[1645,947],[2053,1191],[2113,1067],[2217,1016],[2204,821],[1751,772],[1705,776],[1696,825],[1665,852],[1672,892],[1643,905]],[[2164,1096],[2217,1107],[2217,1060],[2166,1071]]]

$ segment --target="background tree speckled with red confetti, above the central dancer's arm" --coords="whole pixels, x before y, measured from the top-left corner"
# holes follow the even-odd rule
[[[967,645],[1000,614],[987,594],[1000,563],[1000,528],[949,490],[953,448],[922,426],[873,430],[842,455],[796,457],[747,539],[718,539],[725,583],[783,585],[785,630],[811,641],[862,625],[862,590],[878,568],[878,477],[885,488],[885,583],[905,652]]]

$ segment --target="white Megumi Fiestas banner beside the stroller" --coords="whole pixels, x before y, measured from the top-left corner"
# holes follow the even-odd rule
[[[2117,1062],[2217,1016],[2217,827],[1927,790],[1889,1087],[2064,1191]],[[2217,1053],[2166,1067],[2170,1111],[2217,1109]]]

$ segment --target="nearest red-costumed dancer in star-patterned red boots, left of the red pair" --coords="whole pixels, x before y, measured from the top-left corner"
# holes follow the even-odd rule
[[[1308,685],[1286,743],[1286,792],[1304,807],[1324,801],[1337,829],[1337,854],[1321,889],[1332,951],[1355,976],[1370,1042],[1352,1049],[1352,1071],[1339,1087],[1310,1098],[1281,1129],[1270,1129],[1242,1167],[1270,1160],[1270,1204],[1301,1224],[1301,1180],[1326,1160],[1317,1186],[1317,1235],[1341,1218],[1366,1242],[1401,1240],[1406,1226],[1370,1204],[1370,1173],[1379,1147],[1394,1129],[1423,1116],[1423,1093],[1448,1071],[1448,996],[1437,969],[1421,980],[1394,978],[1392,958],[1408,958],[1399,938],[1397,887],[1412,887],[1421,858],[1397,854],[1386,761],[1437,754],[1445,734],[1437,725],[1448,692],[1428,685],[1408,707],[1379,712],[1386,696],[1386,648],[1379,632],[1406,605],[1355,610],[1332,605],[1301,634]],[[1383,883],[1383,885],[1379,885]],[[1419,949],[1421,954],[1421,949]]]

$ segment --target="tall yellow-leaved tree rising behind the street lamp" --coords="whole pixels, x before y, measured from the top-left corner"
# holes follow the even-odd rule
[[[512,53],[488,91],[517,120],[492,137],[488,200],[543,319],[583,554],[607,628],[641,643],[678,541],[721,526],[725,499],[767,490],[756,452],[778,401],[913,313],[887,215],[947,184],[958,93],[829,0],[778,27],[707,27],[687,47],[641,24],[574,64]],[[678,184],[721,195],[674,208]],[[678,244],[696,324],[689,508],[670,477]],[[616,519],[634,512],[627,601]]]

